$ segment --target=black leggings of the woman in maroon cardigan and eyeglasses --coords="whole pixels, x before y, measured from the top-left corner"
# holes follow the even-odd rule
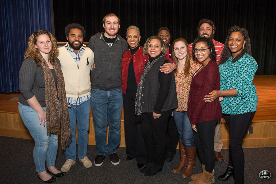
[[[197,132],[194,131],[194,144],[205,170],[213,172],[215,165],[214,137],[217,120],[197,123]]]

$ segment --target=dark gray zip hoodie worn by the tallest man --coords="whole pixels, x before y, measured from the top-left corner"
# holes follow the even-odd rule
[[[120,35],[109,48],[103,38],[103,32],[91,36],[87,47],[94,52],[95,68],[91,72],[91,88],[116,90],[121,86],[122,56],[128,44]]]

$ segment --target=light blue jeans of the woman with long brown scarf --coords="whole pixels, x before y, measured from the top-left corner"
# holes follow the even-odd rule
[[[45,110],[46,108],[43,107]],[[45,171],[45,161],[47,166],[54,166],[56,163],[56,153],[58,149],[58,135],[47,135],[47,126],[39,123],[37,112],[30,106],[18,103],[19,114],[26,128],[35,140],[33,148],[33,159],[36,172]]]

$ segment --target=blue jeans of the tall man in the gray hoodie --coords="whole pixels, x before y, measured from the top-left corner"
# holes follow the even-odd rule
[[[116,153],[121,140],[122,89],[110,91],[91,89],[90,105],[98,155]],[[106,145],[107,123],[109,132]]]

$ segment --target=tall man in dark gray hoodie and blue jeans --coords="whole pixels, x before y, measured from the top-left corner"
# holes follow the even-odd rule
[[[111,163],[117,165],[120,159],[117,147],[121,140],[121,115],[123,108],[121,87],[121,61],[128,49],[125,39],[118,35],[120,19],[113,13],[103,19],[105,32],[91,36],[89,47],[94,52],[95,68],[91,73],[91,98],[95,140],[98,155],[95,166],[101,166],[108,154]],[[108,144],[106,145],[107,124],[109,124]]]

